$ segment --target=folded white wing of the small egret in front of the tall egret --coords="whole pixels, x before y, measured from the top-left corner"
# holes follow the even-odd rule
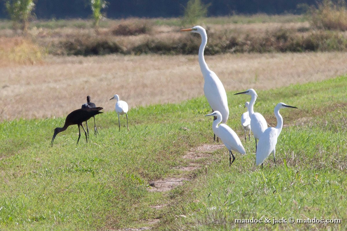
[[[218,137],[228,150],[237,151],[243,155],[246,154],[245,148],[234,130],[226,124],[220,124],[218,130]]]

